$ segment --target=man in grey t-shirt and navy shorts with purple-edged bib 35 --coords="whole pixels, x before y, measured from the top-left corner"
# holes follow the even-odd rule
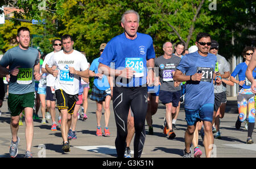
[[[155,67],[159,67],[160,91],[159,99],[166,105],[166,126],[164,126],[164,134],[167,138],[176,137],[172,129],[172,119],[176,115],[176,108],[180,102],[181,87],[179,82],[174,82],[173,74],[177,65],[181,60],[180,57],[172,54],[172,43],[163,44],[164,54],[155,59]]]

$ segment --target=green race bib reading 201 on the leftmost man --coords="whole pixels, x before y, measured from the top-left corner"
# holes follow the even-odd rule
[[[30,84],[32,83],[32,68],[18,68],[17,83]]]

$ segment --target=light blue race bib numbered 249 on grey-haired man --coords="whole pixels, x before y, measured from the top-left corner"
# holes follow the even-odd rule
[[[126,57],[125,58],[125,67],[133,68],[133,70],[136,71],[136,73],[134,73],[135,77],[143,77],[144,76],[143,58]]]

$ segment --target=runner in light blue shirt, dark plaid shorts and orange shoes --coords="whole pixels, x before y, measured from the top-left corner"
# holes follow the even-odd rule
[[[106,47],[105,43],[100,45],[100,55],[102,54],[104,48]],[[104,128],[104,136],[110,136],[109,132],[109,118],[110,118],[110,101],[112,98],[112,88],[110,88],[110,83],[112,83],[112,77],[106,77],[101,73],[98,73],[98,62],[100,57],[93,60],[92,65],[89,69],[90,77],[94,77],[92,93],[90,95],[90,99],[96,101],[97,109],[96,109],[96,117],[97,117],[97,129],[96,136],[102,136],[101,132],[101,115],[102,108],[105,105],[105,128]],[[111,79],[110,79],[111,78]],[[112,85],[113,86],[113,85]],[[104,103],[105,102],[105,103]]]

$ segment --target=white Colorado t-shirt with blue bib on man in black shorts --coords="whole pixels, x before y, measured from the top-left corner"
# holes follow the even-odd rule
[[[69,67],[74,67],[77,71],[88,69],[88,62],[84,54],[77,50],[73,50],[71,54],[65,54],[63,50],[60,50],[52,55],[47,64],[49,67],[57,66],[55,90],[64,90],[69,95],[79,93],[79,75],[70,73]]]

